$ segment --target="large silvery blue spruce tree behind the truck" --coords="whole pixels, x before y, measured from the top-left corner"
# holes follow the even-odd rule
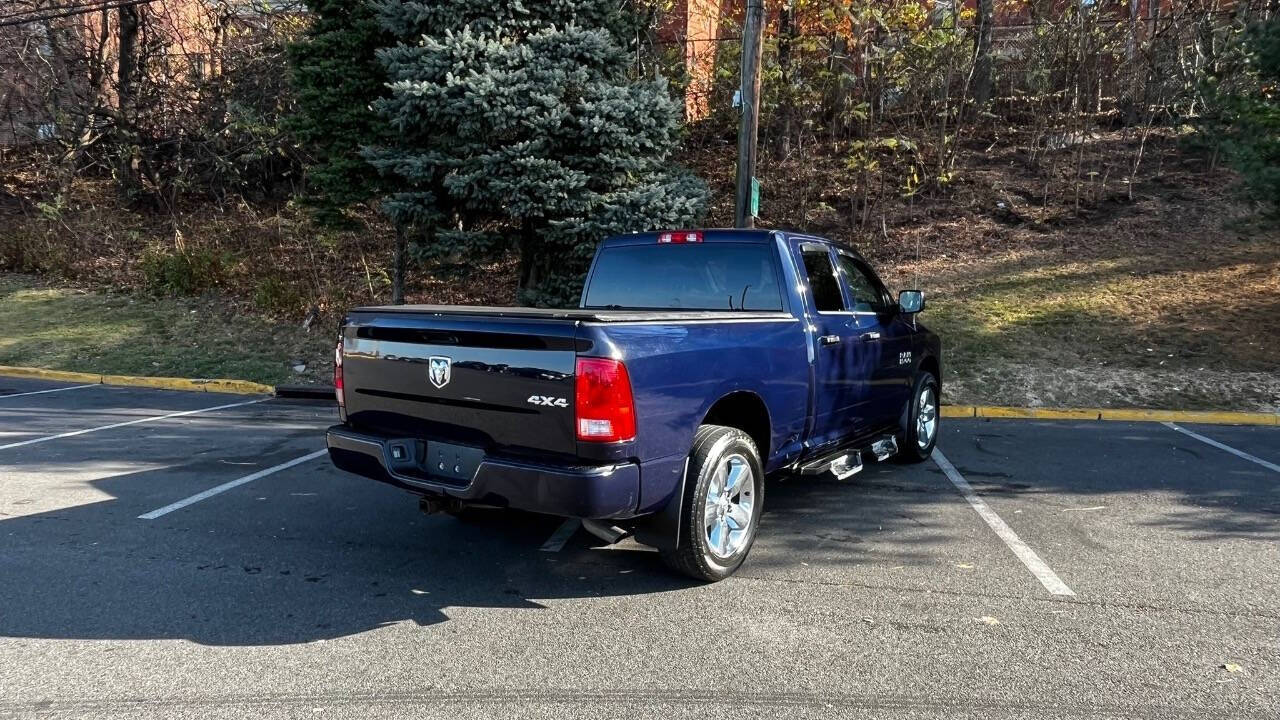
[[[681,106],[634,79],[618,0],[375,3],[392,127],[369,158],[424,259],[518,251],[520,299],[572,305],[595,245],[696,224],[707,188],[671,163]]]

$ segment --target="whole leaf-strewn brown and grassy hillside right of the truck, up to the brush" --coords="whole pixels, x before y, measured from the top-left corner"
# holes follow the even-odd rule
[[[1091,142],[1079,204],[1065,154],[1032,165],[984,141],[945,196],[884,201],[867,228],[838,149],[765,158],[760,224],[852,243],[923,288],[948,402],[1280,410],[1280,231],[1172,133],[1146,147],[1132,200],[1114,170],[1135,140]],[[732,168],[694,159],[731,220]]]

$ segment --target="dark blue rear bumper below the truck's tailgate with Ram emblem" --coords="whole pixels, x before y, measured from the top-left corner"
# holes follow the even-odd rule
[[[392,470],[387,443],[402,438],[334,425],[326,439],[329,457],[339,469],[417,495],[586,519],[634,518],[640,501],[640,468],[634,462],[550,466],[485,457],[467,483],[435,482]]]

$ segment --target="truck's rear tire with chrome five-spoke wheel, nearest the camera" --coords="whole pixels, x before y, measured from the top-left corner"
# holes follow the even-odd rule
[[[717,479],[721,466],[726,468],[726,477],[737,470],[739,488],[728,488],[728,495],[721,502],[721,507],[708,511],[708,492],[713,482],[724,483]],[[741,471],[750,470],[746,475]],[[749,487],[748,487],[749,484]],[[745,493],[749,493],[748,498]],[[732,498],[737,497],[737,502]],[[733,528],[733,519],[744,512],[744,502],[749,500],[746,512],[746,525],[744,536],[733,536],[739,532]],[[728,510],[732,507],[733,510]],[[673,570],[690,578],[714,583],[733,574],[742,561],[746,560],[751,544],[755,542],[755,533],[760,525],[760,514],[764,510],[764,465],[760,462],[760,452],[755,447],[751,437],[737,428],[723,425],[703,425],[694,433],[694,447],[689,455],[689,470],[685,475],[685,493],[680,503],[680,541],[676,550],[663,551],[662,560]],[[712,521],[724,525],[718,528],[718,538],[724,541],[721,552],[713,548],[708,537],[708,516],[718,514],[718,519]]]

